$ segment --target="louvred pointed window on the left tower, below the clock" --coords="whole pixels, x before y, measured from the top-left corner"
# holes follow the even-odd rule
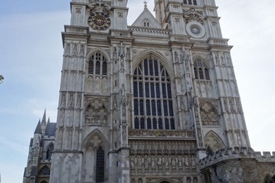
[[[107,59],[100,52],[95,52],[89,58],[88,74],[107,76]]]

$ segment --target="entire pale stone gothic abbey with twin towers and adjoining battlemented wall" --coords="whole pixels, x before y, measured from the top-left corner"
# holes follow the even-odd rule
[[[39,121],[24,183],[274,182],[250,147],[214,0],[72,0],[57,122]]]

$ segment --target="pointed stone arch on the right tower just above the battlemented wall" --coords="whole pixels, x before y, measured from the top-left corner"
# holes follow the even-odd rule
[[[204,137],[207,153],[214,153],[225,147],[223,140],[214,131],[208,131]]]

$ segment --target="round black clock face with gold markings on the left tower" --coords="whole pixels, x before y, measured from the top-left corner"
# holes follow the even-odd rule
[[[91,13],[88,25],[94,30],[107,30],[111,25],[109,16],[103,12]]]

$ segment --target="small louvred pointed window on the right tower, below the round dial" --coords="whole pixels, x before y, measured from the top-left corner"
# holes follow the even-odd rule
[[[194,62],[194,75],[195,79],[199,80],[210,80],[209,69],[201,58],[197,58]]]

